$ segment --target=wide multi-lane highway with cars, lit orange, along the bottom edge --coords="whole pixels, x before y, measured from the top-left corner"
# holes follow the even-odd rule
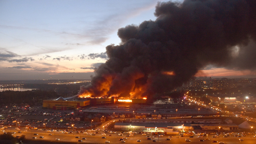
[[[16,132],[13,136],[16,137],[17,135],[26,135],[26,139],[32,139],[32,137],[37,137],[36,140],[53,140],[55,141],[56,138],[60,139],[60,141],[66,141],[66,142],[78,142],[79,139],[83,140],[82,138],[86,138],[86,140],[83,140],[83,142],[79,142],[79,143],[105,143],[105,140],[110,141],[110,143],[112,144],[120,144],[121,141],[119,139],[121,139],[122,137],[128,135],[128,134],[124,134],[124,136],[119,136],[118,133],[106,133],[107,136],[106,139],[102,139],[101,137],[103,137],[101,135],[101,133],[103,133],[103,131],[101,130],[98,134],[96,135],[87,135],[87,134],[83,134],[83,133],[68,133],[68,134],[64,134],[64,133],[59,133],[58,131],[56,132],[46,132],[46,131],[42,131],[42,130],[28,130],[27,132],[23,131],[23,129],[21,130],[22,133],[17,133],[17,130],[14,130],[13,128],[10,129],[8,128],[7,130],[5,130],[4,132]],[[3,131],[0,132],[1,134],[4,133]],[[37,133],[38,135],[34,135],[34,133]],[[49,133],[51,133],[52,135],[48,135]],[[108,136],[108,135],[112,135],[112,136]],[[40,136],[43,136],[44,138],[39,138]],[[157,140],[157,142],[153,142],[152,140],[147,140],[146,136],[150,136],[150,138],[152,140]],[[76,138],[79,137],[79,138]],[[175,143],[175,144],[214,144],[212,142],[212,140],[216,140],[216,141],[222,141],[225,142],[225,144],[255,144],[255,140],[256,138],[250,138],[250,137],[242,137],[242,138],[237,138],[237,137],[228,137],[228,138],[210,138],[210,140],[204,140],[203,142],[200,142],[200,139],[204,139],[206,137],[203,138],[178,138],[177,136],[175,136],[175,138],[169,138],[171,140],[166,140],[166,138],[168,138],[168,136],[164,136],[164,137],[153,137],[151,134],[147,134],[147,135],[141,135],[141,134],[135,134],[134,137],[127,137],[127,139],[125,139],[125,143],[131,144],[131,143],[138,143],[138,144],[151,144],[151,143],[162,143],[162,144],[166,144],[166,143]],[[137,142],[137,140],[141,140],[141,142]],[[190,139],[190,142],[186,142],[185,139]],[[243,139],[244,141],[239,141],[239,139]],[[216,143],[219,144],[219,143]]]

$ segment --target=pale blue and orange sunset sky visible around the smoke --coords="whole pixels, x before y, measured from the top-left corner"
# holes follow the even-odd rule
[[[155,20],[166,0],[1,0],[0,80],[90,79],[118,45],[117,31]],[[255,71],[207,66],[196,76],[255,77]]]

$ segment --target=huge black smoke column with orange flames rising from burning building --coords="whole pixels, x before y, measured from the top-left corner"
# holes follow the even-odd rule
[[[171,91],[208,64],[255,71],[256,1],[185,0],[156,5],[155,21],[118,30],[79,95],[152,97]]]

